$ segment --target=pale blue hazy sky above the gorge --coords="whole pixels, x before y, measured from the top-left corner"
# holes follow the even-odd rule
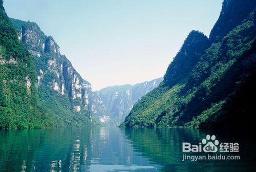
[[[4,0],[51,35],[93,90],[162,77],[191,30],[209,35],[223,0]]]

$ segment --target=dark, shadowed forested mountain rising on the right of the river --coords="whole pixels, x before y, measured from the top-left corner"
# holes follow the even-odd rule
[[[209,39],[190,32],[163,82],[134,105],[122,126],[253,126],[255,7],[252,0],[225,0]]]

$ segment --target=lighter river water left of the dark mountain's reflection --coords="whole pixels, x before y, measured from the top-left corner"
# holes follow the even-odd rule
[[[157,171],[119,128],[1,130],[1,171]]]

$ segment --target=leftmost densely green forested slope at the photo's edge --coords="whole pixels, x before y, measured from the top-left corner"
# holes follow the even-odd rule
[[[18,39],[0,0],[0,128],[52,126],[39,104],[34,59]]]

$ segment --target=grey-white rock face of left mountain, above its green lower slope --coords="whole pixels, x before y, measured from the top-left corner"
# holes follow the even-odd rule
[[[39,90],[50,88],[57,93],[56,96],[62,96],[63,101],[69,101],[67,110],[91,119],[91,84],[77,73],[65,55],[60,54],[53,37],[46,36],[35,23],[16,19],[11,19],[11,22],[18,31],[19,39],[35,58]]]

